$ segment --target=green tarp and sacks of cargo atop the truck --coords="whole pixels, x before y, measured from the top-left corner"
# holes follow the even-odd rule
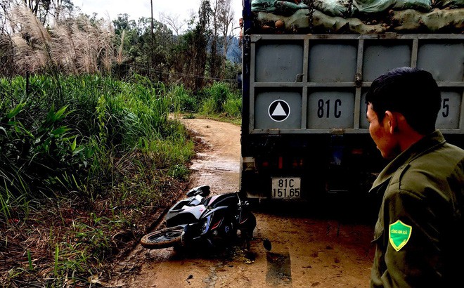
[[[252,0],[264,34],[463,33],[464,0]]]

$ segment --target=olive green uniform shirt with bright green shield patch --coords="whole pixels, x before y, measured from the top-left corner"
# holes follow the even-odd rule
[[[380,173],[371,287],[464,287],[463,163],[434,131]]]

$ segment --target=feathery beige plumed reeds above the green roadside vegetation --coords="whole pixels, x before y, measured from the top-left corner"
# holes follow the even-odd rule
[[[115,33],[109,21],[91,21],[84,15],[56,20],[45,27],[24,5],[13,6],[6,18],[12,33],[0,39],[14,65],[14,72],[54,72],[109,74],[113,63],[124,60],[116,56]]]

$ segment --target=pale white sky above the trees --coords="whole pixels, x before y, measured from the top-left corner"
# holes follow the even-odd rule
[[[138,20],[141,17],[149,18],[150,0],[74,0],[75,6],[81,8],[82,13],[92,15],[97,13],[103,18],[110,16],[117,19],[118,14],[127,13],[129,20]],[[238,19],[242,15],[242,0],[231,0],[235,19],[233,27],[238,26]],[[200,0],[153,0],[153,18],[160,20],[160,12],[176,16],[179,22],[190,19],[191,12],[198,15]]]

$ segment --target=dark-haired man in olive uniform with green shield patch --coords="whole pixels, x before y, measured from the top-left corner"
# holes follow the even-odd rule
[[[464,150],[435,129],[441,96],[432,74],[402,67],[366,95],[370,136],[392,161],[383,193],[370,287],[464,287]]]

